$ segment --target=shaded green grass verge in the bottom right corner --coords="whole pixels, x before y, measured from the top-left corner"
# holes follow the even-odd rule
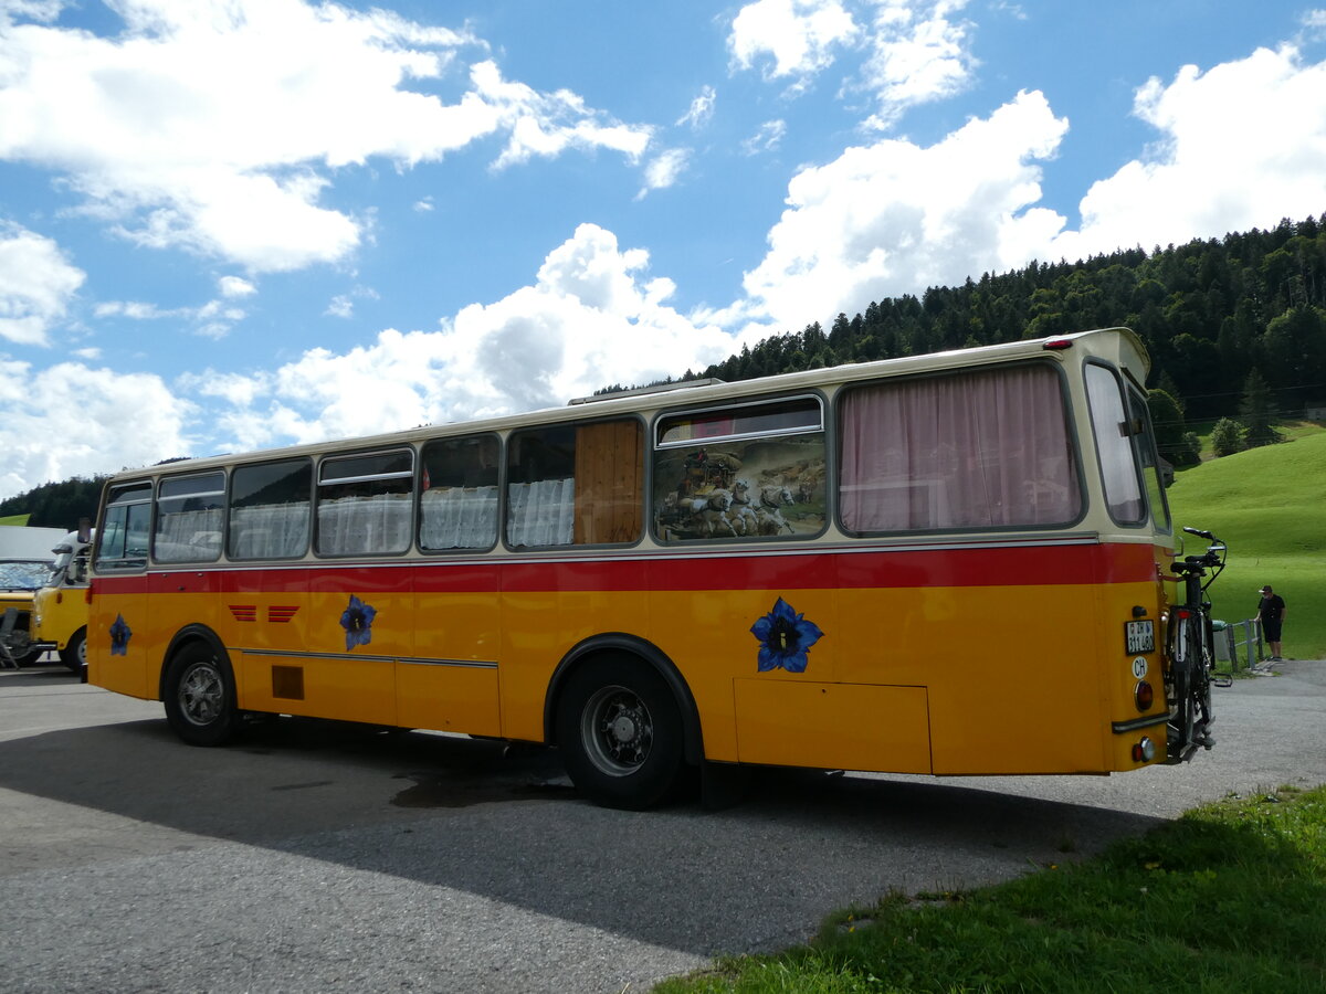
[[[655,994],[1326,990],[1326,787],[1191,811],[1083,863],[891,895]]]

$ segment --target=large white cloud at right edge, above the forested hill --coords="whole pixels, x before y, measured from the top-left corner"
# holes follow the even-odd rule
[[[1079,232],[1053,252],[1220,237],[1319,215],[1326,204],[1326,62],[1258,49],[1207,73],[1184,66],[1138,90],[1135,114],[1162,135],[1155,154],[1091,186]]]

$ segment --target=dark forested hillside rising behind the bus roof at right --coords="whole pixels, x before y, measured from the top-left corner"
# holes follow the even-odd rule
[[[743,349],[692,376],[725,380],[843,362],[960,349],[1127,325],[1151,353],[1151,387],[1188,419],[1238,414],[1253,370],[1276,410],[1326,400],[1326,227],[1191,241],[1150,254],[1032,262],[1001,276],[934,286]]]

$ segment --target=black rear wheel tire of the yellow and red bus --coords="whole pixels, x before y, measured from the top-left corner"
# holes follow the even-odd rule
[[[558,700],[556,730],[566,773],[598,804],[642,811],[679,782],[682,713],[663,677],[636,656],[577,667]]]

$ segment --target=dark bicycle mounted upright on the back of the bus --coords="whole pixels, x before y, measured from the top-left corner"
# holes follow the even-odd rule
[[[1195,527],[1185,527],[1184,531],[1205,538],[1209,545],[1201,555],[1185,555],[1170,567],[1183,582],[1183,599],[1170,612],[1166,672],[1166,697],[1170,705],[1166,738],[1171,763],[1191,759],[1199,746],[1211,749],[1216,744],[1211,734],[1215,724],[1211,684],[1216,643],[1207,588],[1225,569],[1228,554],[1225,543],[1209,531]],[[1203,578],[1207,578],[1205,582]],[[1217,687],[1229,687],[1232,681],[1216,677],[1215,683]]]

